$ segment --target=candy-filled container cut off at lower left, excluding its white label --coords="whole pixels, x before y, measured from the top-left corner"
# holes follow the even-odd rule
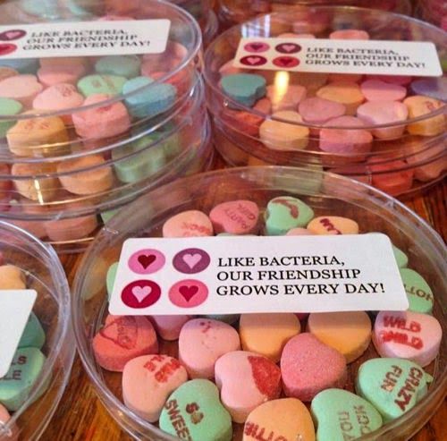
[[[14,364],[0,378],[0,440],[36,440],[55,412],[72,369],[70,290],[55,251],[2,221],[0,256],[0,290],[37,292]]]

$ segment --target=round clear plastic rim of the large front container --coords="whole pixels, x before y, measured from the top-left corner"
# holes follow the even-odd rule
[[[401,202],[397,199],[393,199],[388,196],[383,191],[376,190],[373,187],[370,187],[362,182],[352,181],[346,177],[339,176],[337,174],[330,174],[327,172],[316,172],[309,171],[305,168],[299,167],[280,167],[280,166],[260,166],[260,167],[236,167],[231,169],[217,170],[213,172],[208,172],[206,174],[199,174],[195,176],[191,176],[188,178],[184,178],[180,181],[172,182],[171,184],[165,185],[148,193],[146,196],[136,200],[134,205],[144,205],[146,199],[149,199],[151,196],[156,198],[157,196],[161,197],[164,194],[170,192],[171,187],[182,186],[185,188],[189,188],[195,185],[195,180],[204,177],[225,177],[225,179],[231,180],[231,176],[254,176],[255,178],[261,179],[261,177],[266,177],[268,174],[270,177],[274,177],[279,173],[288,173],[293,176],[293,174],[308,174],[309,176],[321,176],[321,177],[329,177],[331,182],[333,182],[333,186],[335,186],[335,182],[337,183],[337,187],[343,189],[343,193],[347,196],[352,196],[353,198],[357,198],[359,201],[363,201],[364,199],[368,199],[370,202],[373,202],[375,206],[380,206],[381,209],[388,213],[392,213],[392,216],[398,217],[400,222],[405,225],[405,227],[409,230],[409,233],[412,233],[413,237],[419,237],[420,242],[424,243],[425,248],[429,248],[430,251],[434,255],[434,259],[432,263],[437,269],[438,274],[447,274],[447,259],[445,256],[447,254],[447,249],[441,236],[434,231],[434,229],[426,223],[420,216],[417,216],[416,213],[412,212],[409,208],[405,207]],[[197,182],[196,182],[197,183]],[[266,187],[268,188],[268,187]],[[367,191],[367,193],[366,193]],[[323,195],[323,197],[338,197],[335,194],[333,195]],[[187,201],[185,201],[187,202]],[[361,202],[359,202],[361,203]],[[88,335],[85,335],[85,327],[83,318],[82,318],[82,292],[83,292],[83,284],[85,281],[86,273],[89,270],[89,267],[92,267],[94,264],[94,260],[97,257],[98,250],[103,250],[104,245],[110,245],[114,240],[114,235],[119,234],[119,225],[126,220],[128,216],[125,213],[118,214],[114,217],[114,219],[107,224],[101,232],[97,235],[95,241],[90,245],[88,252],[84,255],[84,257],[80,261],[80,268],[78,270],[78,274],[76,276],[74,287],[73,287],[73,295],[72,295],[72,325],[74,329],[74,335],[76,339],[76,346],[78,348],[78,352],[80,354],[80,360],[86,369],[86,372],[95,387],[99,399],[102,403],[105,404],[106,410],[112,415],[114,420],[118,422],[118,424],[130,433],[133,437],[135,435],[131,432],[131,429],[125,425],[125,422],[122,420],[122,415],[124,415],[125,420],[132,420],[138,425],[138,428],[144,429],[151,433],[154,437],[163,440],[174,441],[178,438],[172,437],[166,434],[164,431],[156,428],[152,424],[148,423],[146,420],[142,420],[139,416],[133,414],[118,398],[109,390],[108,387],[105,387],[102,381],[102,377],[97,373],[97,369],[95,367],[95,361],[93,360],[93,355],[90,350],[91,341]],[[128,231],[128,230],[126,230]],[[408,234],[407,234],[408,235]],[[101,309],[100,313],[104,311],[104,305]],[[445,338],[445,336],[444,336]],[[420,402],[417,403],[410,411],[406,412],[400,418],[396,420],[392,420],[390,423],[384,425],[384,427],[379,428],[374,433],[362,437],[362,441],[373,441],[376,439],[380,439],[381,437],[386,436],[386,434],[392,430],[397,429],[400,426],[404,426],[409,420],[412,420],[421,410],[425,409],[425,405],[431,403],[433,398],[436,398],[436,405],[441,403],[443,395],[447,391],[447,366],[441,367],[443,369],[443,374],[440,376],[440,380],[438,384],[429,389],[429,393],[424,397]],[[114,407],[117,411],[112,411],[111,406]],[[432,409],[430,407],[430,409]],[[420,429],[425,421],[423,421],[416,430]],[[416,433],[416,432],[413,432]],[[411,436],[411,435],[410,435]],[[360,438],[359,438],[360,439]],[[387,438],[391,439],[391,438]]]

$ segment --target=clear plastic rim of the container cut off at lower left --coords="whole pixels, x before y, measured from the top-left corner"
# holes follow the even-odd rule
[[[45,386],[48,382],[49,383],[60,382],[58,386],[58,394],[56,394],[55,401],[52,403],[52,406],[47,411],[46,418],[39,421],[37,424],[38,427],[35,429],[34,439],[38,439],[38,437],[40,437],[42,432],[45,430],[46,425],[48,424],[50,418],[53,416],[53,413],[55,412],[57,404],[62,398],[63,391],[70,377],[70,373],[72,370],[72,363],[74,360],[74,354],[76,352],[74,345],[70,347],[70,340],[72,338],[72,323],[70,321],[71,317],[70,288],[65,273],[63,271],[61,262],[57,257],[55,250],[51,246],[46,245],[46,243],[39,241],[35,236],[26,232],[25,230],[22,230],[21,228],[15,225],[11,225],[8,224],[7,222],[4,222],[3,220],[0,220],[0,233],[2,231],[7,233],[13,233],[19,242],[27,242],[28,244],[32,244],[33,250],[37,253],[38,258],[46,261],[47,263],[46,267],[48,268],[48,272],[50,273],[52,279],[55,282],[55,290],[48,290],[50,293],[53,294],[54,297],[57,296],[55,297],[55,301],[57,301],[59,311],[57,327],[55,328],[55,335],[58,335],[55,342],[55,347],[50,353],[48,353],[45,363],[46,369],[42,372],[42,374],[38,378],[38,381],[33,386],[32,392],[28,396],[26,404],[22,406],[19,411],[15,411],[11,419],[8,420],[2,428],[5,433],[8,433],[10,430],[13,431],[14,426],[18,423],[18,420],[21,417],[21,414],[34,404],[30,402],[33,402],[36,396],[38,396],[41,387]],[[63,346],[65,348],[67,348],[67,346],[70,348],[68,351],[70,363],[64,372],[63,369],[65,367],[62,366],[59,368],[61,369],[61,374],[55,375],[53,369],[55,368],[58,355],[61,352]],[[0,432],[0,439],[1,439],[1,432]]]

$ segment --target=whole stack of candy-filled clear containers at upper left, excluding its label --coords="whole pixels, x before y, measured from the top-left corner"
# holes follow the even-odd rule
[[[0,218],[61,251],[80,250],[109,211],[212,162],[196,21],[164,2],[113,14],[105,3],[85,2],[82,16],[63,2],[49,17],[0,5],[3,23],[170,21],[163,54],[0,60]]]

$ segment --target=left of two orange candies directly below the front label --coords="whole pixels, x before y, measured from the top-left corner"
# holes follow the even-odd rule
[[[278,362],[283,347],[292,336],[299,334],[299,319],[295,314],[242,314],[239,334],[242,349],[257,352]]]

